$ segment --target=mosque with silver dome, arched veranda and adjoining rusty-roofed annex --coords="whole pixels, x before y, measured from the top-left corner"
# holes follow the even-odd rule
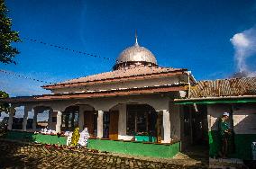
[[[238,89],[238,84],[240,89],[246,86],[246,90]],[[14,108],[24,106],[21,129],[14,129],[15,111],[9,113],[8,129],[15,131],[15,136],[24,138],[21,133],[26,133],[26,137],[31,133],[33,138],[33,132],[38,130],[38,114],[48,111],[48,129],[61,133],[87,128],[89,148],[171,157],[192,144],[209,146],[211,113],[219,117],[215,110],[221,114],[239,103],[241,98],[235,99],[233,95],[249,94],[249,108],[245,109],[254,110],[255,106],[251,107],[251,102],[256,102],[254,84],[255,78],[197,82],[186,68],[160,67],[151,51],[140,46],[135,36],[134,45],[121,52],[110,72],[44,85],[42,88],[50,90],[50,94],[14,97],[2,102],[11,103]],[[222,93],[227,89],[230,93]],[[233,102],[227,103],[230,96]],[[244,98],[242,101],[247,102]],[[213,108],[208,104],[221,106]],[[31,112],[32,125],[27,125]],[[43,137],[51,138],[41,137],[42,143],[50,140],[65,144],[65,137]]]

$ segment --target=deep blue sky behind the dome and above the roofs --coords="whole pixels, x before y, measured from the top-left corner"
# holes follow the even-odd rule
[[[6,0],[13,29],[31,38],[117,58],[133,45],[151,50],[163,67],[184,67],[197,80],[225,78],[237,72],[231,39],[255,27],[252,0]],[[49,82],[110,71],[114,61],[89,58],[28,40],[14,44],[15,65],[0,68]],[[256,70],[256,58],[246,64]],[[16,95],[48,93],[38,83],[0,73],[0,90]]]

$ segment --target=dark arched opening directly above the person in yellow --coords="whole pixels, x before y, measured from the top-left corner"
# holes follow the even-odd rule
[[[69,106],[61,115],[61,131],[73,131],[78,128],[79,106]]]

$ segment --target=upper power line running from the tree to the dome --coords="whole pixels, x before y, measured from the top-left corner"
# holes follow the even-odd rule
[[[33,39],[30,39],[30,38],[23,38],[23,40],[29,40],[31,42],[41,43],[43,45],[50,46],[50,47],[57,48],[57,49],[69,50],[69,51],[72,51],[74,53],[78,53],[78,54],[81,54],[81,55],[86,55],[87,57],[103,58],[103,59],[106,59],[106,60],[115,61],[114,58],[100,57],[100,56],[97,56],[97,55],[94,55],[94,54],[90,54],[90,53],[87,53],[87,52],[78,51],[78,50],[75,50],[75,49],[65,48],[65,47],[61,47],[59,45],[53,45],[53,44],[50,44],[50,43],[46,43],[46,42],[43,42],[41,40],[33,40]]]

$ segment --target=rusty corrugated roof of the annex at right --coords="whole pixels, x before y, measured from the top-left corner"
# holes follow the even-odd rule
[[[191,98],[256,95],[256,77],[199,81],[191,87]]]

